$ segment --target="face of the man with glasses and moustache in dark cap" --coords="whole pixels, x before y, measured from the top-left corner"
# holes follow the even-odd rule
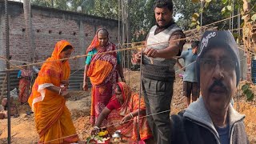
[[[226,49],[217,47],[206,51],[200,62],[200,86],[207,110],[226,110],[236,89],[234,58]]]

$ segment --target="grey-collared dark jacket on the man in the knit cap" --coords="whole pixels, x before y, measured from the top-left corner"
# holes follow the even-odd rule
[[[249,143],[243,123],[245,115],[229,106],[230,144]],[[172,115],[172,144],[220,144],[218,132],[204,105],[202,97],[193,102],[184,114]]]

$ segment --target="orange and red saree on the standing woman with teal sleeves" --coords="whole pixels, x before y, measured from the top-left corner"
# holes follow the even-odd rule
[[[93,42],[87,49],[87,54],[100,46],[97,38],[97,33]],[[108,42],[97,54],[94,54],[91,59],[87,76],[90,77],[92,84],[91,92],[91,110],[90,110],[90,123],[92,125],[97,121],[98,115],[102,112],[104,107],[110,101],[111,96],[114,94],[114,86],[118,78],[117,71],[117,53],[100,54],[106,51],[115,50],[115,45]],[[102,126],[106,125],[106,119],[102,122]]]

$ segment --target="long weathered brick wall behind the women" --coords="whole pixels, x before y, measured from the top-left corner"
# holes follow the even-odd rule
[[[42,6],[32,6],[31,11],[38,62],[46,60],[54,50],[55,43],[61,39],[66,39],[74,46],[72,56],[85,54],[86,47],[90,45],[95,30],[99,27],[109,30],[110,41],[118,43],[118,21]],[[12,60],[30,62],[22,3],[9,2],[8,13]],[[0,0],[0,55],[2,56],[6,54],[5,37],[4,1]],[[84,66],[84,61],[85,58],[70,60],[71,69],[80,69]],[[0,61],[0,71],[2,70],[5,70],[5,62]]]

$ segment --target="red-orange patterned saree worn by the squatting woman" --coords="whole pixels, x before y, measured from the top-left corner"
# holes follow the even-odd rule
[[[137,141],[138,133],[137,133],[137,126],[139,124],[139,134],[141,140],[146,140],[148,138],[152,137],[152,133],[150,130],[150,126],[148,125],[148,122],[145,118],[140,118],[139,122],[137,121],[138,116],[134,117],[132,121],[129,121],[122,125],[114,125],[118,122],[122,121],[122,118],[126,116],[127,114],[130,114],[131,112],[138,110],[139,106],[139,95],[138,94],[132,94],[130,87],[124,83],[124,82],[118,82],[118,86],[120,86],[122,90],[122,95],[124,98],[124,103],[122,104],[122,107],[120,107],[118,110],[112,110],[107,118],[107,125],[111,125],[108,127],[108,130],[110,131],[110,134],[113,134],[116,130],[121,130],[122,136],[127,140]],[[114,100],[115,96],[111,98],[111,100]],[[145,102],[144,99],[141,98],[140,102],[140,109],[145,110]]]

